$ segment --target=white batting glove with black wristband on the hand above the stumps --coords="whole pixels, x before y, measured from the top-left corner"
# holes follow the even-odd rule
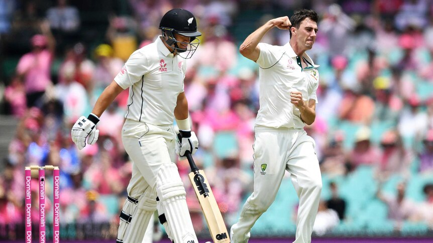
[[[72,141],[77,145],[79,150],[86,146],[86,139],[87,144],[90,145],[98,140],[99,130],[96,129],[96,123],[98,123],[98,121],[99,118],[93,113],[90,113],[87,119],[81,116],[72,126]]]

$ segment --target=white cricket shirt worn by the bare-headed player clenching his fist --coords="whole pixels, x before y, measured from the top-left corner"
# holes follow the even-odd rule
[[[299,91],[302,99],[317,102],[316,90],[319,75],[318,65],[304,53],[297,57],[289,43],[284,46],[272,46],[259,43],[259,92],[260,109],[256,125],[273,128],[303,128],[300,111],[290,103],[290,92]],[[301,58],[308,66],[301,67]]]

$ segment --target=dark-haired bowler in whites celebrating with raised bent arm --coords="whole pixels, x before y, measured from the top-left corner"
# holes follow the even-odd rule
[[[295,11],[268,21],[247,37],[241,54],[259,65],[260,109],[255,124],[254,191],[232,226],[231,242],[246,243],[256,220],[275,200],[284,173],[299,197],[295,243],[310,243],[321,191],[314,140],[303,129],[315,120],[317,65],[305,53],[314,44],[317,14]],[[284,46],[260,43],[271,29],[290,32]]]

